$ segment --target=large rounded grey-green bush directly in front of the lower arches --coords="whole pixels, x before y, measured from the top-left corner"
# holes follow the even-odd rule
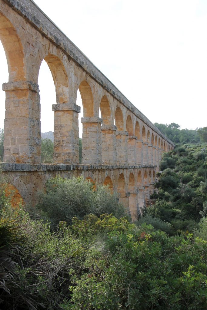
[[[37,208],[47,212],[48,219],[55,228],[60,221],[72,223],[76,216],[82,219],[87,214],[100,216],[113,214],[117,218],[126,216],[126,210],[118,203],[116,193],[111,193],[108,186],[94,186],[83,177],[63,179],[56,177],[46,183],[46,192],[38,194]]]

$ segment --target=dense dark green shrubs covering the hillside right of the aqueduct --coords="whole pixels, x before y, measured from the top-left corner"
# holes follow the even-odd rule
[[[157,174],[155,193],[151,196],[153,205],[144,210],[141,222],[153,224],[156,219],[156,223],[167,225],[167,230],[163,230],[170,234],[191,232],[198,226],[207,203],[207,153],[201,151],[205,146],[184,144],[163,154],[162,172]]]

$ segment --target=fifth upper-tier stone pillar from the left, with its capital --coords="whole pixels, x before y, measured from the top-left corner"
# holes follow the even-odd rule
[[[117,165],[128,165],[127,131],[116,131]]]

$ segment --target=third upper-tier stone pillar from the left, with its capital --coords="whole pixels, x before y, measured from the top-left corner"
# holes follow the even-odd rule
[[[81,117],[83,123],[82,164],[101,165],[101,123],[99,117]]]

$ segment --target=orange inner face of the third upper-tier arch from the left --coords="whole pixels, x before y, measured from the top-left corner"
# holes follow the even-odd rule
[[[88,82],[82,81],[79,84],[79,91],[83,104],[83,117],[93,117],[94,116],[94,103],[92,90]]]

